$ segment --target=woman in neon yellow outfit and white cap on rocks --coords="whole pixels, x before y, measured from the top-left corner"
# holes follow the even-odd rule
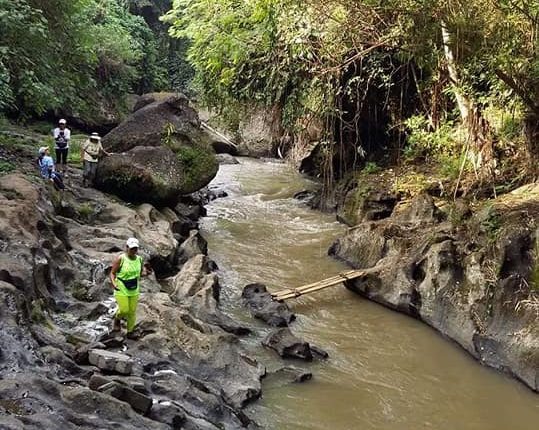
[[[151,267],[145,266],[138,255],[139,242],[134,237],[127,239],[125,252],[114,260],[110,279],[114,288],[114,297],[118,311],[114,315],[113,331],[120,331],[122,319],[127,321],[127,334],[135,328],[137,322],[137,304],[140,295],[140,277],[146,276]]]

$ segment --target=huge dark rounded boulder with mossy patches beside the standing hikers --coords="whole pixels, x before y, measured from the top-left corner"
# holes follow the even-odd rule
[[[185,96],[149,94],[134,109],[103,138],[103,146],[115,154],[99,163],[99,189],[130,202],[162,205],[214,178],[215,152]]]

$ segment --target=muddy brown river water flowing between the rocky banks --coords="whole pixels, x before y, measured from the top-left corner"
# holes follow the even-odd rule
[[[223,279],[222,306],[254,326],[245,346],[275,370],[260,347],[268,328],[242,307],[251,282],[279,289],[349,270],[327,256],[345,231],[335,217],[292,198],[314,184],[285,165],[240,159],[212,186],[229,196],[207,206],[202,232]],[[249,412],[267,429],[537,430],[539,396],[480,366],[426,325],[336,286],[289,301],[292,331],[329,352],[324,362],[286,363],[312,371],[304,384],[268,380]],[[268,378],[269,379],[269,378]]]

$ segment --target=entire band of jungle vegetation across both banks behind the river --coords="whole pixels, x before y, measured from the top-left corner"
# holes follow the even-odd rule
[[[0,115],[160,90],[232,127],[265,109],[328,183],[416,162],[516,186],[538,174],[539,2],[0,0]]]

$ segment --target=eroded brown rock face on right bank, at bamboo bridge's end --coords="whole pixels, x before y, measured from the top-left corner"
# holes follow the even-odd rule
[[[475,210],[423,194],[352,227],[330,253],[373,268],[349,289],[539,390],[539,185]]]

